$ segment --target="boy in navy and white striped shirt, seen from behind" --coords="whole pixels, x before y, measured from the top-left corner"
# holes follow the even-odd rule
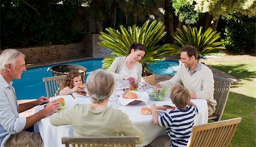
[[[158,115],[155,104],[151,105],[154,124],[166,127],[171,140],[170,146],[187,146],[195,116],[198,113],[195,103],[190,101],[191,95],[187,88],[177,85],[172,88],[171,100],[177,107],[162,116]]]

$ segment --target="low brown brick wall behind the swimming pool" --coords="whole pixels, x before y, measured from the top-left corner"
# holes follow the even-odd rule
[[[86,34],[82,42],[67,45],[49,45],[40,47],[16,48],[26,55],[26,63],[49,62],[49,60],[67,58],[105,58],[111,55],[112,50],[105,49],[97,43],[100,34]],[[0,50],[0,54],[3,50]]]

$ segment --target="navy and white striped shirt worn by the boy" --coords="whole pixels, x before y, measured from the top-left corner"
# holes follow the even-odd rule
[[[159,126],[166,127],[171,146],[187,146],[197,113],[197,106],[188,105],[185,110],[175,109],[158,116]]]

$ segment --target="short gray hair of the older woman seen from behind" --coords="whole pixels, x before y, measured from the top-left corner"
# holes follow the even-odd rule
[[[114,77],[102,69],[91,72],[86,80],[86,92],[93,103],[107,100],[115,90]]]

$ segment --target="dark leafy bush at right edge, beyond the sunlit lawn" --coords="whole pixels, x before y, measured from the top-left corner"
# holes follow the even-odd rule
[[[232,53],[250,53],[255,50],[255,16],[249,18],[237,13],[222,17],[220,31],[223,32],[225,47]]]

